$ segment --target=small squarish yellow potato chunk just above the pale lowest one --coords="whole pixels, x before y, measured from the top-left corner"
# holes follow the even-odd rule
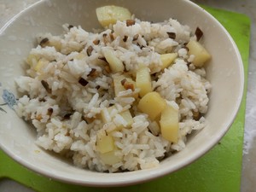
[[[111,136],[98,137],[97,143],[96,143],[97,150],[102,154],[113,151],[113,148],[114,148],[113,142],[114,142],[113,137]]]

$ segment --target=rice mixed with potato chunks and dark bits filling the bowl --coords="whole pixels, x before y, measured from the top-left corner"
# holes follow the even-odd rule
[[[104,7],[113,8],[123,9]],[[203,33],[173,19],[152,23],[128,14],[106,21],[96,11],[102,30],[65,24],[60,36],[38,35],[26,75],[15,79],[22,95],[15,111],[32,122],[38,146],[75,166],[96,172],[158,166],[207,125],[211,84],[204,63],[211,56],[199,43]]]

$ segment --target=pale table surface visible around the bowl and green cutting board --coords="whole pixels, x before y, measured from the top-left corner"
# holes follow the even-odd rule
[[[21,10],[26,9],[32,3],[39,0],[0,0],[0,28],[13,16]],[[247,109],[246,122],[244,133],[244,148],[243,148],[243,163],[241,175],[241,192],[253,191],[256,189],[256,129],[253,125],[256,124],[256,3],[255,0],[243,1],[223,1],[223,0],[194,0],[195,3],[212,6],[219,9],[236,11],[241,14],[246,14],[251,18],[251,40],[250,40],[250,58],[248,68],[248,83],[247,83]],[[254,44],[253,44],[254,43]],[[9,179],[0,181],[0,192],[20,191],[32,192],[32,189],[27,189],[19,183],[15,183]]]

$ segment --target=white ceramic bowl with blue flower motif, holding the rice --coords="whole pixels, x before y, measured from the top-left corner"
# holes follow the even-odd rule
[[[212,83],[209,126],[189,137],[187,147],[160,162],[160,166],[137,172],[99,173],[83,170],[68,164],[35,145],[36,132],[31,125],[18,118],[7,106],[0,111],[0,147],[20,164],[35,172],[68,183],[90,186],[118,186],[146,182],[155,177],[177,171],[205,154],[218,143],[236,117],[241,103],[244,75],[241,56],[236,44],[224,27],[212,15],[186,0],[53,0],[41,1],[26,9],[3,27],[0,34],[1,91],[10,90],[15,95],[14,78],[21,75],[21,64],[32,49],[36,34],[51,32],[61,34],[64,23],[81,25],[90,31],[100,27],[95,9],[106,4],[116,4],[131,10],[142,20],[162,21],[170,17],[193,30],[200,26],[204,32],[204,45],[212,54],[207,66],[207,79]],[[0,93],[2,95],[2,93]],[[0,103],[3,103],[1,98]],[[40,153],[38,153],[40,151]]]

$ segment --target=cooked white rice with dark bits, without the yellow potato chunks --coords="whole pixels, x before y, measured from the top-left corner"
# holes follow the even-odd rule
[[[184,44],[195,38],[189,26],[172,19],[162,23],[136,19],[132,26],[118,21],[112,30],[98,33],[86,32],[80,26],[63,28],[61,36],[38,35],[38,46],[28,57],[26,76],[16,79],[24,96],[15,110],[32,121],[40,147],[72,158],[76,166],[86,169],[135,171],[158,166],[166,155],[185,148],[191,131],[206,126],[202,115],[207,113],[211,84],[205,69],[195,67],[193,55],[184,49]],[[169,38],[167,32],[176,33],[176,38]],[[50,44],[44,46],[42,40]],[[102,54],[105,47],[115,50],[125,71],[136,72],[138,63],[143,63],[154,73],[154,90],[179,111],[177,143],[166,141],[158,123],[137,110],[132,94],[139,89],[114,96],[113,79]],[[171,67],[160,71],[160,54],[168,52],[177,52],[178,57]],[[91,70],[96,70],[95,77],[90,77]],[[88,84],[80,84],[81,78]],[[113,105],[116,110],[108,113],[106,109]],[[131,128],[116,130],[117,125],[125,124],[119,113],[126,109],[132,111],[134,123]],[[106,114],[108,123],[103,123],[100,113]],[[114,139],[119,162],[113,165],[104,163],[96,148],[96,137],[104,134],[102,131],[108,131]]]

